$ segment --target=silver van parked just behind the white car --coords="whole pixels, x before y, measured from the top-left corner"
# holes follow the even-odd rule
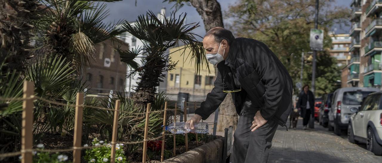
[[[332,106],[328,117],[329,131],[341,135],[341,130],[348,128],[349,118],[354,113],[350,108],[361,106],[361,102],[370,93],[380,91],[379,88],[347,87],[337,89],[332,97]]]

